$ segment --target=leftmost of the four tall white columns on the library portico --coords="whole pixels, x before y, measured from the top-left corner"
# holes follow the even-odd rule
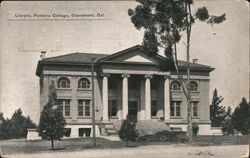
[[[108,121],[108,75],[102,79],[102,120]]]

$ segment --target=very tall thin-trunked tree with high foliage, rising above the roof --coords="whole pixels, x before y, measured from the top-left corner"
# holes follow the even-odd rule
[[[131,22],[137,29],[143,28],[143,46],[151,55],[156,55],[159,47],[164,49],[166,57],[175,66],[176,74],[181,82],[183,92],[188,102],[188,136],[192,141],[192,109],[190,95],[190,37],[192,25],[196,20],[211,25],[225,20],[221,16],[209,15],[206,7],[198,8],[193,15],[191,5],[193,0],[137,0],[136,8],[129,9]],[[187,81],[179,74],[177,60],[177,43],[181,40],[181,33],[186,34]]]

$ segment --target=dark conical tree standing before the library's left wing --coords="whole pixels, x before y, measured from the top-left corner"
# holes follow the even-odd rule
[[[54,150],[54,140],[64,135],[66,124],[58,105],[56,89],[50,86],[48,103],[43,107],[39,122],[39,135],[43,139],[51,140],[51,149]]]

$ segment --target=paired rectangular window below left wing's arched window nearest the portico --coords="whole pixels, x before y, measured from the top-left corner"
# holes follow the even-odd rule
[[[89,99],[78,100],[78,116],[90,116],[90,110],[91,108]]]

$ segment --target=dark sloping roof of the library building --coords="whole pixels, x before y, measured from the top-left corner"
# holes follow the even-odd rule
[[[114,54],[95,54],[95,53],[71,53],[66,55],[60,55],[56,57],[49,57],[42,60],[39,60],[36,75],[39,76],[42,70],[43,65],[46,64],[60,64],[60,65],[90,65],[92,62],[92,59],[95,58],[97,62],[103,62],[103,61],[109,61],[112,60],[115,56],[120,56],[123,53],[128,53],[132,50],[140,49],[142,50],[143,47],[136,45],[134,47],[130,47],[128,49],[119,51]],[[156,57],[163,62],[168,62],[169,59],[161,56],[156,55]],[[122,61],[119,61],[120,63],[123,63]],[[141,63],[140,63],[141,64]],[[180,69],[186,69],[187,68],[187,62],[178,60],[178,66]],[[206,70],[206,71],[212,71],[214,68],[208,66],[208,65],[202,65],[197,63],[190,62],[190,68],[193,70]]]

